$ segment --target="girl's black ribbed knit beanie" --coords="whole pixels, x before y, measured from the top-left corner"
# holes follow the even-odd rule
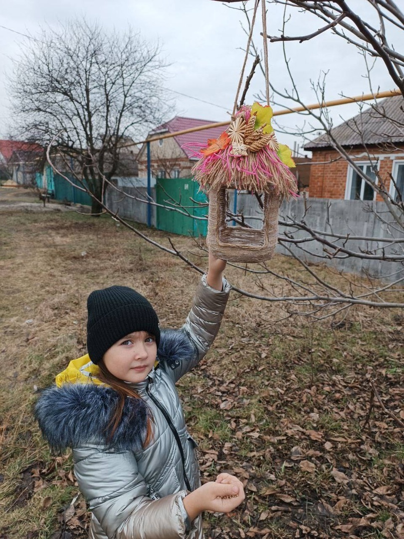
[[[87,300],[87,350],[97,364],[108,348],[134,331],[148,331],[160,342],[156,311],[149,301],[128,286],[94,290]]]

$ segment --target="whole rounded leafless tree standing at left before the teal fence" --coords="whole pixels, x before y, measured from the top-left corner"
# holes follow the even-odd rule
[[[19,132],[47,146],[94,194],[119,173],[128,137],[162,121],[164,63],[140,34],[73,20],[27,42],[11,81]],[[122,163],[121,163],[122,168]]]

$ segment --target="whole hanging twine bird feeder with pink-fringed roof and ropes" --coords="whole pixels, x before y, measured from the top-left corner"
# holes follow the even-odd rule
[[[232,120],[218,139],[207,141],[206,148],[194,151],[199,157],[192,173],[209,197],[207,244],[211,252],[235,262],[261,262],[275,251],[278,234],[278,210],[283,198],[296,196],[295,167],[290,149],[276,140],[271,126],[269,106],[268,55],[265,3],[262,2],[264,64],[266,67],[267,105],[241,106],[237,101],[259,0],[255,0],[247,54],[242,68]],[[228,190],[248,190],[263,196],[262,228],[229,226]]]

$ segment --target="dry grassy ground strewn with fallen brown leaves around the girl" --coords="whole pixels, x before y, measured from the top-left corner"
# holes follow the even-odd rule
[[[109,217],[51,207],[0,189],[0,539],[87,536],[70,454],[50,454],[32,406],[85,353],[89,292],[134,287],[163,327],[179,327],[199,280]],[[168,234],[147,232],[169,246]],[[206,266],[193,240],[172,239]],[[287,257],[270,264],[300,274]],[[254,292],[285,286],[226,275]],[[239,510],[205,515],[206,537],[404,537],[403,313],[352,309],[338,329],[299,316],[273,323],[284,315],[280,303],[232,292],[213,348],[180,381],[203,478],[229,471],[246,485]],[[385,410],[377,398],[371,407],[371,381]]]

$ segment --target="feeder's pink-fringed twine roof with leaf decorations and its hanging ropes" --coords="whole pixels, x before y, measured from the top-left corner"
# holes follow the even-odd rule
[[[238,104],[260,2],[267,109],[257,102],[251,107],[241,107],[241,102]],[[251,76],[248,77],[245,91]],[[208,140],[207,147],[201,147],[195,155],[198,162],[192,167],[192,174],[202,189],[210,191],[227,187],[269,194],[274,192],[286,199],[295,196],[296,178],[289,169],[294,166],[290,149],[278,143],[270,123],[273,113],[269,105],[269,89],[266,0],[255,0],[232,121],[218,139]]]

